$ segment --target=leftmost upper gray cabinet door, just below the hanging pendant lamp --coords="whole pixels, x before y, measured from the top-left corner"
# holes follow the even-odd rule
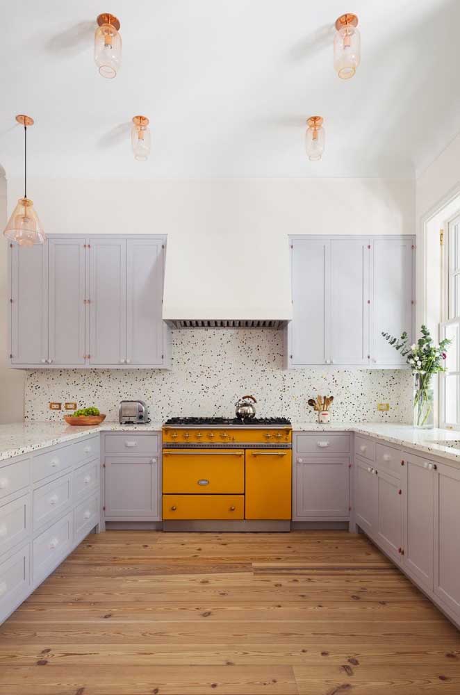
[[[43,365],[48,360],[48,245],[11,252],[11,363]]]

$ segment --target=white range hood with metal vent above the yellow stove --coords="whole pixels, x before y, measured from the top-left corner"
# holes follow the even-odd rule
[[[287,234],[168,236],[163,319],[172,328],[281,328],[292,313]]]

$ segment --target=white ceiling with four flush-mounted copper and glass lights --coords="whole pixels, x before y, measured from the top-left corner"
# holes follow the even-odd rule
[[[114,80],[93,60],[97,14],[120,18]],[[342,81],[333,24],[359,15]],[[35,118],[31,176],[411,177],[460,129],[460,0],[4,0],[0,164],[22,173],[16,113]],[[148,115],[152,153],[131,155]],[[304,154],[306,117],[326,153]]]

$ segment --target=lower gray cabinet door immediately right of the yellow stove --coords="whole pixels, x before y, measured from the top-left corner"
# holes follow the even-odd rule
[[[293,518],[350,518],[350,459],[297,456]]]

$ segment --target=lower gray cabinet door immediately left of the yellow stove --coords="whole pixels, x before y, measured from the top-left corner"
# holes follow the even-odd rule
[[[106,519],[159,519],[157,457],[106,457]]]

